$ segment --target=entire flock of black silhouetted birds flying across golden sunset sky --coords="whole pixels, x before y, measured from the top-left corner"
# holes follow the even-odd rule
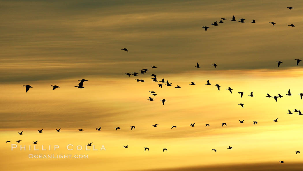
[[[293,9],[292,7],[287,7],[288,9]],[[214,22],[214,23],[212,23],[211,25],[213,25],[213,26],[218,26],[218,23],[224,23],[222,20],[226,20],[225,18],[221,18],[221,20],[219,21],[219,22]],[[238,22],[244,22],[244,20],[245,19],[239,19],[240,21],[238,21]],[[233,16],[232,17],[232,19],[230,19],[230,21],[236,21],[235,20],[235,16]],[[252,20],[252,22],[251,23],[256,23],[255,22],[255,19],[253,19]],[[271,23],[273,26],[275,26],[275,22],[269,22],[269,23]],[[291,26],[291,27],[295,27],[295,25],[293,25],[293,24],[290,24],[290,25],[288,25],[288,26]],[[207,29],[209,28],[208,26],[203,26],[202,28],[204,28],[205,29],[205,31],[207,31]],[[121,49],[121,50],[124,50],[124,51],[127,51],[128,52],[128,49],[126,49],[126,48],[123,48],[123,49]],[[295,59],[296,60],[296,64],[297,64],[297,66],[298,66],[298,64],[300,63],[300,61],[302,61],[302,60],[300,60],[300,59]],[[278,67],[280,67],[280,64],[281,63],[283,63],[283,62],[281,62],[281,61],[277,61],[277,63],[278,63]],[[212,64],[215,68],[217,68],[217,64],[216,63],[214,63],[214,64]],[[197,63],[197,65],[195,66],[196,68],[201,68],[200,66],[199,66],[199,63]],[[157,67],[155,67],[155,66],[151,66],[151,68],[157,68]],[[143,75],[143,74],[146,74],[146,72],[147,71],[149,71],[148,69],[142,69],[142,70],[139,70],[140,71],[140,73]],[[128,77],[131,77],[131,75],[132,76],[134,76],[134,77],[137,77],[138,75],[139,75],[139,73],[136,73],[136,72],[132,72],[132,73],[125,73],[126,75],[128,75]],[[158,81],[158,78],[157,78],[157,75],[155,75],[155,74],[151,74],[151,76],[152,76],[152,81],[154,81],[154,82],[161,82],[161,83],[166,83],[166,84],[158,84],[158,86],[160,87],[160,88],[163,88],[162,86],[163,85],[166,85],[166,86],[171,86],[171,84],[172,83],[169,83],[168,82],[168,80],[164,80],[164,78],[162,78],[161,79],[161,81]],[[145,80],[143,80],[143,79],[135,79],[137,82],[145,82]],[[75,87],[78,87],[78,88],[85,88],[85,87],[83,87],[83,83],[85,82],[85,81],[88,81],[88,80],[85,80],[85,79],[82,79],[82,80],[78,80],[78,81],[80,81],[80,83],[78,84],[78,86],[75,86]],[[191,82],[189,85],[196,85],[196,83],[195,82]],[[207,80],[207,83],[205,84],[205,85],[211,85],[210,84],[210,82],[209,82],[209,80]],[[25,90],[26,90],[26,92],[28,92],[29,91],[29,89],[30,88],[33,88],[32,86],[30,86],[30,85],[23,85],[24,87],[25,87]],[[52,88],[52,90],[55,90],[56,88],[60,88],[59,86],[57,86],[57,85],[51,85],[51,87],[53,87]],[[218,91],[220,91],[220,85],[219,84],[216,84],[215,85],[215,87],[217,87],[218,88]],[[175,88],[181,88],[179,85],[177,85]],[[231,87],[228,87],[228,88],[226,88],[225,90],[228,90],[228,91],[230,91],[230,93],[232,94],[232,88]],[[156,94],[156,92],[155,91],[149,91],[149,93],[151,93],[151,95],[153,95],[153,96],[156,96],[157,94]],[[243,97],[243,94],[244,94],[244,92],[238,92],[239,94],[240,94],[240,96],[241,96],[241,98]],[[290,90],[288,90],[288,94],[286,94],[286,95],[288,95],[288,96],[291,96],[292,94],[291,94],[291,91]],[[302,99],[302,97],[303,97],[303,93],[300,93],[299,94],[300,95],[300,97],[301,97],[301,99]],[[250,96],[250,97],[254,97],[254,95],[253,95],[253,92],[251,92],[250,93],[250,95],[248,95],[248,96]],[[269,95],[269,94],[267,94],[267,96],[266,97],[273,97],[274,99],[275,99],[275,101],[277,101],[277,99],[278,98],[281,98],[281,97],[283,97],[283,96],[281,96],[281,94],[278,94],[278,95],[276,95],[276,96],[271,96],[271,95]],[[149,97],[148,99],[147,99],[148,101],[154,101],[155,100],[155,98],[151,98],[151,97]],[[162,101],[162,104],[164,105],[165,104],[165,102],[166,102],[166,100],[165,99],[161,99],[160,101]],[[242,103],[240,103],[240,104],[238,104],[238,105],[241,105],[241,107],[242,108],[244,108],[244,104],[242,104]],[[303,115],[302,113],[301,113],[301,111],[300,110],[297,110],[297,109],[295,109],[294,110],[294,112],[298,112],[298,115]],[[290,111],[290,110],[288,110],[288,114],[290,114],[290,115],[292,115],[293,113]],[[273,120],[274,122],[277,122],[278,121],[278,118],[276,118],[275,120]],[[244,120],[239,120],[239,123],[244,123]],[[221,123],[222,124],[222,127],[225,125],[225,126],[227,126],[227,123]],[[253,121],[253,125],[257,125],[258,124],[258,122],[257,121]],[[159,125],[159,124],[155,124],[155,125],[152,125],[153,127],[157,127],[157,125]],[[191,126],[191,127],[195,127],[195,123],[191,123],[189,126]],[[207,126],[210,126],[209,124],[205,124],[205,127],[207,127]],[[130,126],[131,127],[131,130],[133,130],[133,129],[135,129],[136,127],[135,126]],[[177,128],[177,126],[175,126],[175,125],[172,125],[171,126],[171,129],[172,128]],[[118,130],[118,129],[121,129],[120,127],[115,127],[115,129],[116,130]],[[42,133],[42,130],[43,129],[41,129],[41,130],[38,130],[38,133]],[[56,129],[56,132],[60,132],[60,130],[61,130],[61,128],[60,129]],[[97,131],[101,131],[101,127],[99,127],[99,128],[96,128],[96,130]],[[78,131],[84,131],[83,129],[78,129]],[[23,135],[22,134],[23,133],[23,131],[22,132],[18,132],[18,134],[19,135]],[[18,141],[16,141],[16,142],[18,142],[18,143],[20,143],[22,140],[18,140]],[[11,141],[6,141],[5,143],[7,143],[7,142],[11,142]],[[37,144],[37,142],[38,141],[34,141],[33,142],[33,144]],[[91,143],[88,143],[88,145],[87,146],[92,146],[92,142]],[[128,145],[123,145],[123,148],[128,148]],[[231,146],[228,146],[228,148],[227,149],[232,149],[233,147],[231,147]],[[144,147],[144,151],[146,151],[146,150],[148,150],[149,151],[149,148],[148,147]],[[163,149],[163,152],[164,151],[167,151],[167,149],[166,148],[164,148]],[[217,149],[211,149],[211,150],[213,150],[213,151],[215,151],[215,152],[217,152]],[[296,152],[296,154],[298,154],[298,153],[300,153],[300,151],[295,151]],[[279,162],[281,162],[281,163],[284,163],[284,161],[279,161]]]

